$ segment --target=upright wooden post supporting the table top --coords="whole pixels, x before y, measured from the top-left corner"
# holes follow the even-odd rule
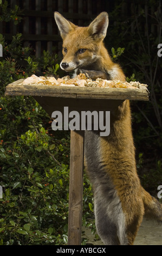
[[[71,131],[68,245],[81,245],[85,131]]]

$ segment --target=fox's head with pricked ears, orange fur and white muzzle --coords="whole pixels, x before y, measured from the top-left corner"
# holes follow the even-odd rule
[[[106,36],[108,14],[99,14],[88,27],[79,27],[55,12],[55,21],[63,39],[61,69],[70,72],[93,64],[99,57]]]

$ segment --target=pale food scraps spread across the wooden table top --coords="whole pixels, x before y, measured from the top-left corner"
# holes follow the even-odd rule
[[[122,82],[120,80],[103,80],[97,78],[93,81],[87,78],[85,74],[80,74],[74,78],[69,76],[64,76],[62,78],[55,77],[45,77],[32,75],[26,78],[22,84],[35,84],[35,85],[47,85],[47,86],[76,86],[76,87],[102,87],[102,88],[139,88],[140,85],[147,86],[146,84],[141,84],[139,82]]]

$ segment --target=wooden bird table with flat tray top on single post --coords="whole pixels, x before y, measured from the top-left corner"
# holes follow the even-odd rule
[[[23,80],[9,84],[6,96],[30,95],[50,115],[54,111],[110,111],[124,100],[148,100],[148,90],[140,88],[92,88],[69,86],[22,85]],[[68,245],[81,245],[83,158],[85,131],[70,132],[70,178]]]

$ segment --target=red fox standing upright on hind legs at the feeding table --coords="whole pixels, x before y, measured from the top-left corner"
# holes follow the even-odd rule
[[[103,39],[108,14],[99,14],[88,27],[78,27],[55,12],[63,39],[65,71],[83,72],[89,78],[125,81],[118,64],[112,62]],[[85,131],[85,162],[94,193],[96,230],[105,245],[133,245],[145,214],[162,222],[162,207],[142,188],[135,163],[129,101],[111,113],[107,137]]]

